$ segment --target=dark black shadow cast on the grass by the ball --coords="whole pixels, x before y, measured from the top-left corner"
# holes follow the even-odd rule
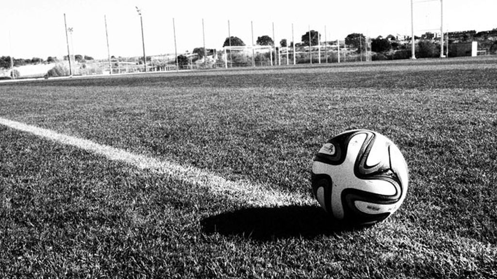
[[[238,235],[255,240],[311,239],[360,229],[335,222],[320,207],[248,208],[209,216],[200,221],[205,233]]]

